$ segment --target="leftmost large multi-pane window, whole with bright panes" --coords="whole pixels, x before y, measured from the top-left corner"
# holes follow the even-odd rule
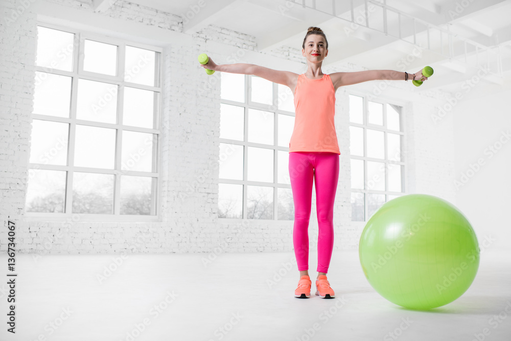
[[[26,211],[156,215],[161,50],[37,29]]]

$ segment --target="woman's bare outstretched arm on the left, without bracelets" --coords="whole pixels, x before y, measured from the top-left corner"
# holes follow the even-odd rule
[[[294,78],[298,78],[298,75],[293,72],[268,69],[268,67],[255,64],[236,63],[218,65],[215,64],[211,57],[207,64],[201,64],[201,66],[205,69],[228,72],[231,74],[254,75],[267,79],[270,82],[287,85],[289,87],[292,86]]]

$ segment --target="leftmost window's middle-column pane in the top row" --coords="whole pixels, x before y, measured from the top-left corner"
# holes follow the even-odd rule
[[[117,75],[117,46],[85,39],[83,71]]]

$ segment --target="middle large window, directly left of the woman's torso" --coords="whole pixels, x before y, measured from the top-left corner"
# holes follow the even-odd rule
[[[293,220],[291,90],[255,76],[221,74],[219,218]]]

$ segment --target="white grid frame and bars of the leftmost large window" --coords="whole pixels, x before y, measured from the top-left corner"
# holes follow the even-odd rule
[[[29,163],[29,169],[42,169],[42,170],[57,170],[57,171],[66,171],[66,188],[65,188],[65,199],[64,199],[64,213],[43,213],[43,212],[26,212],[25,217],[27,221],[115,221],[115,222],[154,222],[159,221],[160,212],[158,210],[158,202],[160,199],[160,172],[159,172],[159,155],[161,155],[161,108],[162,108],[162,89],[161,84],[164,82],[163,75],[161,73],[162,70],[162,60],[163,60],[163,49],[158,48],[156,46],[150,46],[147,44],[142,44],[138,42],[126,41],[124,39],[112,38],[103,35],[93,34],[83,30],[77,30],[69,27],[63,27],[59,25],[50,24],[48,22],[38,21],[37,26],[60,30],[68,33],[75,34],[74,38],[74,51],[73,51],[73,71],[62,71],[51,69],[49,67],[44,66],[35,66],[35,71],[51,73],[62,76],[72,77],[72,85],[71,85],[71,111],[69,118],[62,118],[56,116],[48,116],[48,115],[39,115],[35,113],[31,113],[32,119],[37,120],[45,120],[59,123],[69,124],[69,135],[68,135],[68,146],[67,146],[67,165],[44,165],[44,164],[33,164]],[[95,40],[98,42],[110,43],[118,46],[118,64],[117,64],[117,76],[103,75],[97,74],[93,72],[81,71],[83,68],[83,51],[84,51],[84,41]],[[78,47],[76,46],[76,42],[78,40]],[[120,72],[120,70],[124,70],[124,60],[125,60],[125,51],[126,46],[131,46],[135,48],[146,49],[150,51],[157,52],[156,60],[155,60],[155,76],[157,80],[156,86],[148,86],[143,84],[136,84],[131,82],[124,81],[124,74]],[[78,48],[78,49],[77,49]],[[78,58],[77,58],[78,54]],[[35,61],[34,61],[35,63]],[[118,90],[118,117],[121,119],[123,115],[123,100],[124,100],[124,87],[135,87],[140,89],[151,90],[157,92],[159,95],[157,96],[157,100],[155,100],[155,115],[159,118],[156,121],[156,128],[141,128],[141,127],[132,127],[126,126],[119,123],[103,123],[103,122],[92,122],[85,120],[76,119],[76,107],[77,107],[77,90],[78,90],[78,79],[86,79],[92,81],[106,82],[119,86]],[[118,120],[119,122],[120,120]],[[94,127],[102,127],[102,128],[111,128],[116,130],[116,140],[115,140],[115,166],[114,169],[103,169],[103,168],[88,168],[88,167],[76,167],[74,164],[74,149],[75,149],[75,139],[71,138],[75,135],[76,125],[87,125]],[[155,172],[140,172],[140,171],[131,171],[131,170],[121,170],[121,155],[118,153],[122,146],[122,134],[124,130],[131,130],[137,132],[145,132],[156,135],[156,148],[153,150],[152,161],[153,161],[153,169]],[[101,174],[113,174],[114,175],[114,193],[113,193],[113,213],[112,214],[93,214],[93,213],[71,213],[72,203],[73,203],[73,177],[71,176],[74,172],[85,172],[85,173],[101,173]],[[152,193],[154,195],[153,207],[151,208],[152,212],[155,212],[155,215],[127,215],[120,214],[120,183],[121,177],[116,175],[134,175],[134,176],[145,176],[152,178]],[[115,204],[117,202],[117,204]]]

